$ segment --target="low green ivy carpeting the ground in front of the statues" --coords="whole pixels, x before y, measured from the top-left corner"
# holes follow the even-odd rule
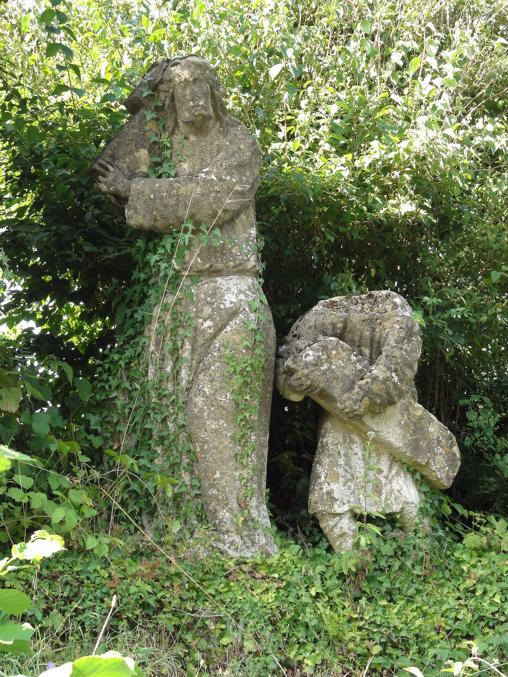
[[[402,675],[416,666],[436,675],[446,661],[467,659],[471,642],[488,659],[502,660],[506,523],[492,520],[465,538],[438,519],[430,526],[421,523],[406,536],[384,522],[360,577],[358,558],[331,552],[310,529],[303,540],[278,532],[278,554],[248,561],[224,559],[217,550],[204,556],[183,544],[168,551],[170,561],[138,538],[109,559],[71,548],[43,563],[35,583],[26,572],[7,576],[5,585],[34,586],[27,618],[43,638],[41,661],[86,653],[114,593],[119,607],[104,651],[141,626],[165,637],[175,674],[360,674],[370,657],[373,674]],[[143,647],[130,649],[144,674],[168,674]]]

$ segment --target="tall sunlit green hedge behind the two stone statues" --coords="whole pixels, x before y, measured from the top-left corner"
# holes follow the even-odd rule
[[[478,432],[461,445],[456,496],[505,511],[505,3],[43,9],[4,9],[1,37],[3,249],[20,284],[6,309],[9,326],[40,328],[16,341],[21,361],[55,355],[93,381],[125,317],[136,235],[85,169],[140,72],[198,51],[263,151],[257,213],[279,336],[321,297],[404,294],[422,322],[422,403],[463,441]],[[471,431],[479,406],[496,436]],[[299,418],[295,437],[295,408],[275,398],[282,512],[312,460],[316,412]],[[478,458],[484,477],[471,481]]]

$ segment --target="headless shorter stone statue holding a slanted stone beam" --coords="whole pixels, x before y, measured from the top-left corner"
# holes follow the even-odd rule
[[[461,456],[453,435],[417,404],[420,349],[412,311],[391,291],[320,301],[280,347],[275,378],[282,395],[294,401],[309,395],[324,408],[309,512],[337,552],[352,547],[354,515],[365,507],[400,513],[404,531],[410,529],[419,495],[400,461],[432,487],[449,487],[457,475]],[[377,469],[366,472],[369,435]]]

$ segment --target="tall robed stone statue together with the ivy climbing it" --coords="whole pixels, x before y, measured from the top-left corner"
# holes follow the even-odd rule
[[[259,148],[196,56],[155,64],[125,106],[133,117],[89,171],[129,225],[179,235],[168,252],[171,284],[159,280],[142,378],[152,391],[172,378],[166,401],[184,402],[178,437],[190,445],[180,479],[190,488],[200,478],[221,548],[272,554],[265,494],[275,332],[258,279]],[[167,451],[163,444],[161,456]]]

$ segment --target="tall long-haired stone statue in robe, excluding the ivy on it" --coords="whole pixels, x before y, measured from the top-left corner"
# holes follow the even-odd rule
[[[199,279],[192,286],[192,301],[187,295],[181,301],[182,311],[194,318],[192,336],[182,348],[188,364],[180,376],[188,397],[187,430],[198,459],[195,471],[207,515],[219,533],[221,548],[236,556],[270,555],[278,549],[266,531],[270,521],[265,502],[275,331],[265,303],[261,311],[266,321],[260,328],[267,359],[250,458],[255,492],[248,502],[249,525],[245,527],[246,520],[241,529],[242,466],[234,441],[236,404],[228,390],[225,362],[227,350],[238,358],[245,355],[242,339],[247,323],[256,318],[251,310],[251,302],[259,300],[254,195],[261,157],[247,128],[226,110],[221,92],[217,73],[205,60],[196,56],[161,60],[125,100],[133,116],[89,173],[134,228],[173,232],[188,217],[197,230],[202,223],[220,230],[216,246],[202,245],[196,238],[182,271],[187,280]],[[156,121],[146,114],[153,110],[152,95],[157,100],[155,111],[165,121],[165,136],[171,139],[173,175],[166,178],[150,172],[152,156],[160,154],[154,141]],[[169,360],[164,368],[171,368]]]

